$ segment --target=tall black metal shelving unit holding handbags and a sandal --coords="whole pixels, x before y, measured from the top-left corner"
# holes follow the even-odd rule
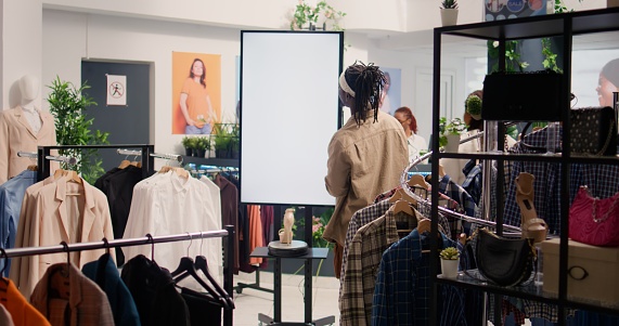
[[[560,164],[560,173],[563,175],[560,184],[562,196],[568,197],[569,194],[569,168],[571,164],[604,164],[604,165],[619,165],[618,157],[584,157],[570,154],[569,139],[570,139],[570,121],[569,121],[569,104],[570,104],[570,83],[571,83],[571,51],[572,38],[575,36],[582,36],[588,34],[605,32],[619,30],[619,8],[592,10],[582,12],[571,12],[565,14],[554,14],[534,17],[524,17],[517,19],[505,19],[487,23],[457,25],[449,27],[435,28],[434,30],[434,81],[433,81],[433,134],[439,134],[439,118],[440,118],[440,69],[441,69],[441,43],[443,36],[459,36],[465,38],[474,38],[479,40],[499,41],[499,63],[500,69],[504,68],[505,63],[505,41],[521,40],[521,39],[536,39],[545,37],[563,37],[563,64],[564,75],[562,78],[562,93],[559,104],[565,107],[560,114],[563,122],[563,153],[552,156],[542,155],[510,155],[506,153],[479,153],[479,154],[453,154],[440,153],[438,138],[434,138],[430,144],[433,149],[431,157],[431,173],[438,175],[439,159],[440,158],[461,158],[461,159],[483,159],[497,160],[503,162],[505,160],[525,160],[525,161],[551,161]],[[524,94],[526,95],[526,94]],[[501,121],[497,121],[502,125]],[[501,126],[499,126],[501,127]],[[501,128],[499,128],[500,130]],[[487,131],[488,132],[488,131]],[[502,139],[502,138],[498,138]],[[502,145],[497,144],[497,148],[501,151]],[[502,166],[502,165],[500,165]],[[497,180],[504,180],[504,171],[499,169]],[[438,214],[438,179],[433,179],[431,192],[431,216]],[[498,182],[497,192],[503,192],[502,182]],[[525,287],[499,287],[488,285],[486,283],[470,279],[468,277],[459,277],[457,279],[446,279],[439,276],[434,277],[431,287],[431,305],[430,305],[430,325],[438,323],[438,286],[452,285],[463,288],[479,289],[490,294],[501,296],[511,296],[534,301],[543,301],[549,304],[555,304],[558,308],[558,325],[566,323],[566,309],[582,309],[586,311],[619,314],[619,309],[612,307],[601,307],[591,304],[584,301],[576,301],[569,299],[567,296],[567,264],[568,264],[568,213],[569,200],[562,200],[562,223],[560,223],[560,246],[559,246],[559,274],[558,284],[559,289],[556,295],[549,295],[543,292],[539,287],[525,286]],[[502,233],[503,224],[503,203],[501,196],[497,200],[497,232]],[[433,233],[438,233],[437,219],[433,219],[431,223]],[[435,238],[433,236],[431,238]],[[437,252],[438,244],[436,240],[430,243],[433,252]],[[437,275],[438,255],[430,256],[430,275]],[[497,303],[497,302],[495,302]],[[500,302],[499,302],[500,303]],[[499,307],[497,307],[499,308]],[[500,309],[495,309],[495,312]],[[499,315],[500,316],[500,315]],[[494,325],[501,325],[501,318],[494,318]]]

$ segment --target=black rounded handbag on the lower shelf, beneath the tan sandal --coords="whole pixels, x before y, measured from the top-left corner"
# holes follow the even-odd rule
[[[477,269],[490,283],[516,286],[531,278],[537,260],[533,239],[502,237],[485,227],[478,229],[473,237]]]

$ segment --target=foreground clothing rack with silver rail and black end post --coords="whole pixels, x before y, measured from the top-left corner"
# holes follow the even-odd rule
[[[234,263],[234,226],[225,225],[224,230],[218,231],[206,231],[206,232],[194,232],[194,233],[183,233],[183,234],[172,234],[172,235],[160,235],[151,236],[150,234],[144,237],[139,238],[122,238],[113,240],[101,240],[95,243],[78,243],[68,245],[57,245],[57,246],[47,246],[47,247],[30,247],[30,248],[14,248],[2,250],[2,256],[4,258],[24,257],[24,256],[37,256],[37,255],[48,255],[48,253],[59,253],[59,252],[72,252],[72,251],[85,251],[85,250],[95,250],[95,249],[107,249],[117,247],[129,247],[129,246],[142,246],[163,243],[173,243],[173,242],[184,242],[201,238],[211,238],[211,237],[225,237],[227,245],[223,246],[223,289],[230,296],[232,296],[232,264]],[[233,325],[233,312],[232,309],[223,310],[223,326]]]

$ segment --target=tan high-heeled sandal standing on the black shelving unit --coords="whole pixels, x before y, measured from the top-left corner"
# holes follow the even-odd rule
[[[532,238],[534,243],[541,243],[546,239],[549,225],[546,222],[538,218],[536,207],[533,206],[533,181],[536,178],[531,173],[521,172],[516,178],[516,203],[523,214],[520,227],[523,230],[523,238]]]

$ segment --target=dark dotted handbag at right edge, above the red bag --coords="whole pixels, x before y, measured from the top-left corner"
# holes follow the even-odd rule
[[[571,153],[614,156],[617,154],[617,117],[615,109],[583,107],[569,110]]]

